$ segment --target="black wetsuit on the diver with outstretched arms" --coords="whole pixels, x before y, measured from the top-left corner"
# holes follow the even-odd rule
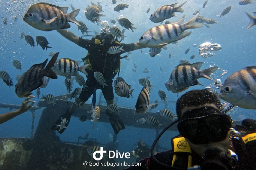
[[[134,43],[131,44],[120,44],[115,41],[111,46],[122,46],[124,51],[121,51],[116,54],[109,54],[107,50],[110,46],[104,46],[102,44],[95,43],[93,40],[85,40],[79,38],[79,46],[88,50],[88,54],[85,57],[85,63],[89,63],[90,65],[87,67],[86,72],[88,73],[86,86],[80,96],[79,99],[81,101],[86,102],[89,97],[93,94],[94,88],[101,89],[103,96],[106,100],[114,99],[113,92],[113,78],[118,72],[120,67],[120,54],[124,52],[129,52],[134,50]],[[107,86],[103,86],[99,84],[94,78],[94,72],[98,71],[103,74],[104,79],[107,81]]]

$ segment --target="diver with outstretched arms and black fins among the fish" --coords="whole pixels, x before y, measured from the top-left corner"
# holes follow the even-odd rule
[[[74,42],[77,45],[88,50],[86,57],[82,59],[82,61],[85,61],[85,64],[89,65],[86,68],[86,72],[88,73],[88,76],[86,76],[86,86],[82,89],[79,96],[80,103],[85,103],[93,93],[95,93],[96,96],[95,90],[101,89],[107,105],[114,104],[112,79],[115,77],[117,72],[119,74],[121,64],[120,54],[136,49],[141,49],[144,47],[138,45],[137,43],[121,44],[120,42],[118,42],[117,38],[115,39],[115,37],[109,32],[108,27],[102,29],[102,33],[100,35],[97,35],[95,38],[93,37],[91,40],[78,37],[66,29],[59,29],[57,30],[57,32],[69,41]],[[115,54],[109,54],[107,53],[107,51],[111,46],[123,46],[123,51]],[[106,80],[105,83],[107,84],[107,86],[102,86],[97,82],[94,77],[94,72],[102,73],[104,79]],[[96,102],[96,97],[95,99],[93,98],[93,101],[94,100]],[[57,122],[53,125],[51,129],[57,130],[59,133],[63,133],[66,128],[60,129],[60,127],[57,127],[56,125],[60,125],[61,121],[65,118],[65,127],[67,127],[70,122],[71,115],[76,107],[77,106],[75,104],[72,104],[72,106],[67,109],[66,113],[57,120]],[[124,124],[114,113],[111,113],[110,110],[108,110],[107,108],[106,111],[107,115],[109,116],[111,126],[114,132],[117,134],[121,129],[125,128]]]

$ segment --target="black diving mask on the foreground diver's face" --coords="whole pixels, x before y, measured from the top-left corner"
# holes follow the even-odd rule
[[[216,109],[217,110],[217,109]],[[192,110],[193,112],[195,111]],[[190,112],[190,111],[189,111]],[[212,113],[203,116],[183,119],[177,125],[180,134],[194,144],[206,144],[224,140],[232,126],[230,116],[223,113]],[[187,113],[186,113],[187,115]]]

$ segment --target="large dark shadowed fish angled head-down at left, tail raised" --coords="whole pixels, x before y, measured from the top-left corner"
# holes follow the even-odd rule
[[[52,79],[58,78],[56,73],[51,70],[51,67],[54,65],[58,55],[59,52],[54,54],[47,65],[46,63],[48,59],[46,59],[43,63],[32,65],[28,71],[22,74],[18,83],[15,85],[15,93],[18,97],[28,97],[31,95],[33,90],[37,89],[43,84],[42,79],[44,76]]]

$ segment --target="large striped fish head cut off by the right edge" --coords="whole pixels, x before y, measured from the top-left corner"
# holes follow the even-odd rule
[[[256,109],[256,66],[245,67],[230,75],[218,97],[241,108]]]

